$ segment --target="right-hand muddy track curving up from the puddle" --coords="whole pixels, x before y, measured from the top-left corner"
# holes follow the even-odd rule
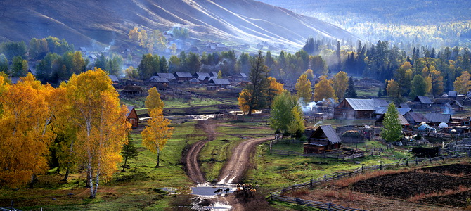
[[[272,140],[273,137],[262,137],[249,139],[240,143],[233,151],[231,159],[228,160],[219,174],[221,183],[240,183],[243,175],[250,166],[250,155],[254,153],[255,146],[259,143]]]

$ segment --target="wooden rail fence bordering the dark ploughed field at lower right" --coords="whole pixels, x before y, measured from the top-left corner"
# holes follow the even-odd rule
[[[439,162],[447,160],[447,159],[452,159],[452,158],[465,158],[465,157],[470,157],[471,153],[470,151],[467,151],[467,153],[456,153],[456,154],[451,154],[451,155],[443,155],[435,158],[411,158],[411,159],[401,159],[398,162],[394,163],[389,163],[389,164],[382,164],[380,162],[380,165],[372,165],[372,166],[362,166],[359,168],[356,168],[355,170],[351,170],[349,172],[334,172],[331,174],[325,174],[322,177],[318,177],[317,179],[311,179],[310,181],[304,182],[302,184],[295,184],[292,186],[288,186],[287,188],[282,188],[278,191],[274,191],[270,194],[270,199],[271,200],[278,200],[278,201],[283,201],[287,203],[297,203],[298,205],[305,205],[309,207],[316,207],[318,209],[323,209],[323,210],[339,210],[339,211],[346,211],[346,210],[358,210],[355,208],[351,207],[343,207],[340,205],[334,205],[332,203],[323,203],[323,202],[317,202],[317,201],[310,201],[310,200],[302,200],[299,198],[294,198],[290,196],[283,196],[283,193],[287,191],[295,191],[299,188],[313,188],[314,186],[317,186],[318,184],[324,183],[326,181],[333,181],[336,179],[341,179],[344,177],[351,177],[357,174],[362,174],[363,172],[366,171],[373,171],[373,170],[385,170],[387,168],[391,167],[398,167],[401,165],[419,165],[419,163],[422,162]]]

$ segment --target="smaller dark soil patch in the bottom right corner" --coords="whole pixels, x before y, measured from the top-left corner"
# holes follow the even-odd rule
[[[454,193],[446,196],[433,196],[419,200],[420,203],[446,205],[451,207],[467,207],[470,205],[471,191]]]

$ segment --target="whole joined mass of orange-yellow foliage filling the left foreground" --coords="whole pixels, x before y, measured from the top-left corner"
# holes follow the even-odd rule
[[[21,187],[33,174],[46,172],[56,134],[71,130],[73,158],[94,179],[93,197],[98,177],[110,178],[121,161],[130,129],[127,108],[120,106],[111,84],[101,69],[73,75],[58,88],[42,85],[32,75],[18,84],[0,77],[0,186]]]

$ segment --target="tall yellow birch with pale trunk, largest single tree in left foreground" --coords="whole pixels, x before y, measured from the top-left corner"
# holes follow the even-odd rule
[[[75,151],[86,168],[90,198],[96,198],[100,181],[107,181],[121,162],[131,124],[107,72],[100,68],[72,75],[67,84],[67,103],[77,127]]]

